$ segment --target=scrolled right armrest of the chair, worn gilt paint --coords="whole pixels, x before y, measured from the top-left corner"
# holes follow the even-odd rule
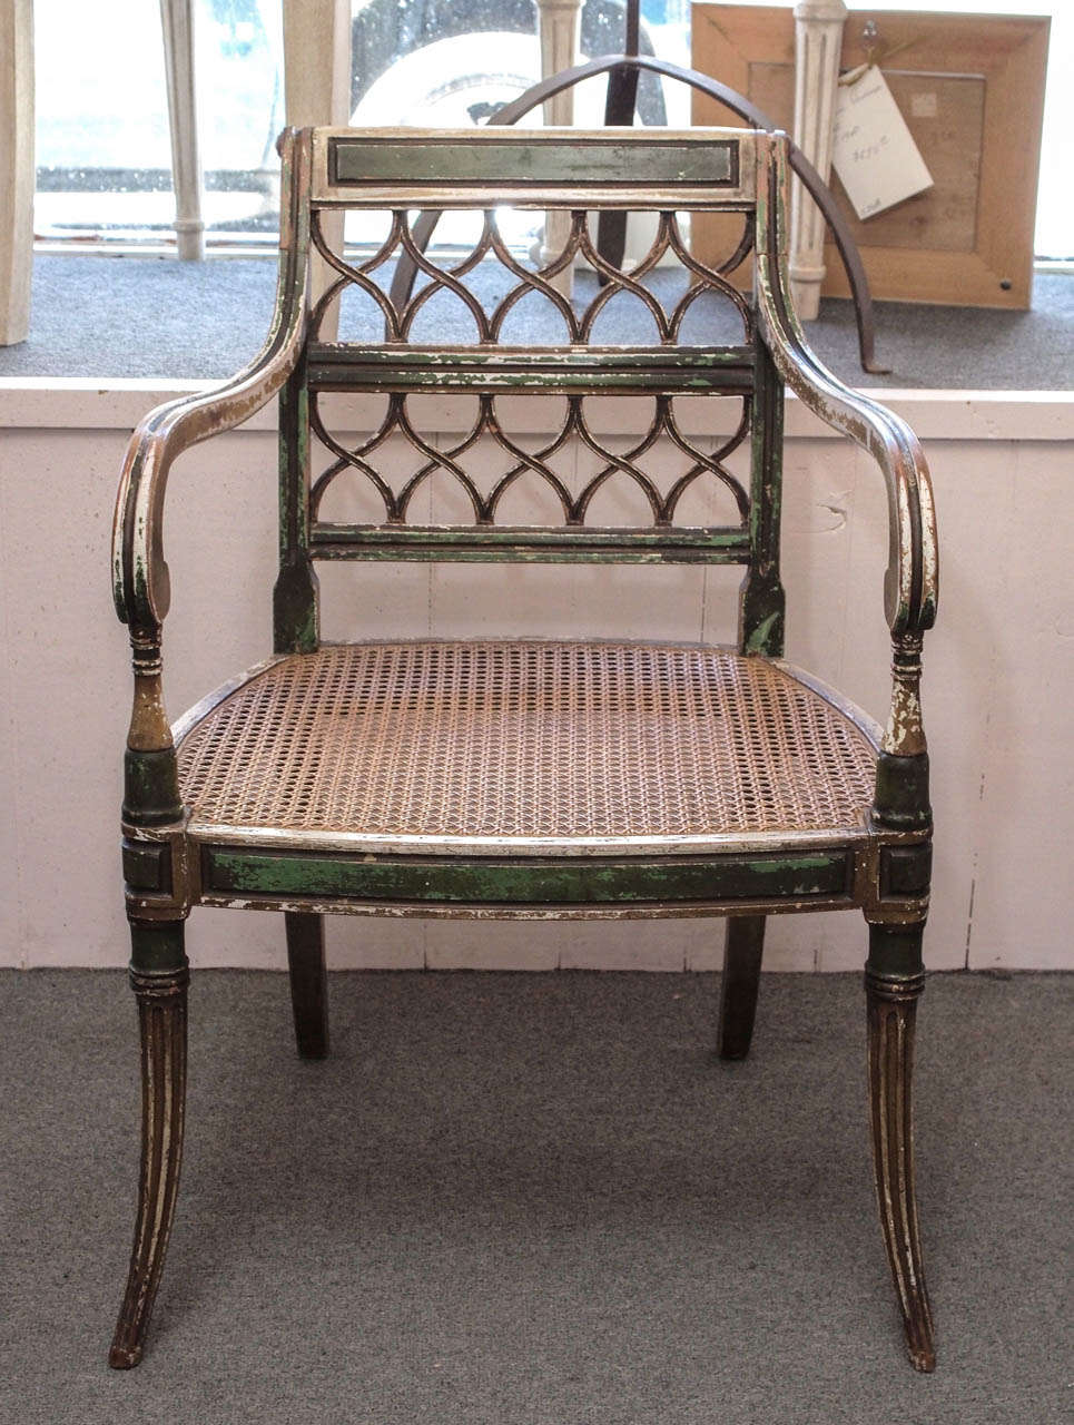
[[[758,174],[756,299],[761,331],[783,380],[823,422],[869,450],[887,486],[885,614],[892,636],[920,637],[939,598],[936,512],[922,446],[886,406],[845,386],[810,351],[789,299],[785,135],[769,135],[768,181]]]

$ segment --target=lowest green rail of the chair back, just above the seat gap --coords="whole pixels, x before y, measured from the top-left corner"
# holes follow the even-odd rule
[[[313,559],[402,559],[527,564],[744,564],[749,536],[742,530],[590,530],[464,524],[315,524]]]

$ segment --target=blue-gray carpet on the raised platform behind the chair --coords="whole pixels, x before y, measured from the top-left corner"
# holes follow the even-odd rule
[[[491,281],[477,274],[473,285],[481,289]],[[658,272],[652,285],[665,296],[678,281],[674,272]],[[259,349],[273,285],[271,258],[197,264],[38,255],[30,336],[0,348],[0,376],[228,376]],[[595,294],[591,274],[580,278],[578,292]],[[610,304],[597,339],[652,341],[637,299],[617,302]],[[459,341],[471,339],[460,305],[429,304],[424,321],[434,339],[453,332]],[[536,306],[520,308],[518,329],[504,339],[563,339],[558,322],[547,323]],[[685,332],[687,339],[724,339],[716,304],[697,304],[689,321],[694,332]],[[825,301],[808,335],[832,369],[856,386],[1067,390],[1074,385],[1074,275],[1037,274],[1030,312],[879,302],[876,328],[877,358],[892,366],[890,376],[867,376],[857,366],[850,302]],[[373,336],[376,329],[370,306],[355,314],[349,335]],[[416,331],[415,339],[420,336]],[[736,339],[729,328],[726,338]]]

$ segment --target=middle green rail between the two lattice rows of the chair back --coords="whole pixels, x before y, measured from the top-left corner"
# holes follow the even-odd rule
[[[315,390],[513,390],[571,395],[677,395],[754,389],[752,346],[714,348],[400,348],[313,345]]]

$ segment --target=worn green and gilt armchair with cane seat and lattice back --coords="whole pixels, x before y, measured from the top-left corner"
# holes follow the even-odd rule
[[[880,1220],[910,1359],[932,1369],[910,1076],[930,875],[920,651],[936,613],[934,516],[913,435],[825,370],[795,319],[785,135],[318,128],[288,131],[281,151],[279,285],[266,345],[232,380],[145,418],[117,503],[115,606],[134,668],[122,835],[144,1109],[135,1240],[111,1364],[141,1358],[172,1220],[184,931],[197,905],[283,912],[298,1049],[308,1057],[328,1049],[325,913],[725,918],[719,1050],[741,1057],[765,918],[857,906],[869,925]],[[540,271],[503,237],[509,205],[571,212],[565,248]],[[338,208],[386,215],[372,254],[329,251],[320,215]],[[707,208],[742,217],[738,252],[722,268],[698,262],[684,241],[678,215]],[[412,232],[415,209],[476,214],[471,247],[462,256],[424,251]],[[657,215],[652,249],[631,272],[601,256],[588,218],[622,209]],[[752,302],[724,275],[751,247]],[[312,251],[335,274],[316,301]],[[396,306],[392,275],[403,258],[422,281]],[[574,261],[603,285],[571,304],[550,279]],[[661,261],[684,285],[671,291]],[[486,269],[494,269],[489,279]],[[322,318],[345,294],[362,296],[375,329],[326,343]],[[432,322],[442,294],[457,304],[470,339],[446,341]],[[655,341],[597,341],[618,294],[640,304]],[[509,342],[513,311],[534,298],[560,339]],[[714,304],[738,326],[732,342],[705,335]],[[687,341],[698,328],[701,339]],[[782,656],[785,385],[867,449],[886,482],[893,675],[883,731]],[[326,398],[340,392],[377,403],[375,429],[358,445],[330,428]],[[413,398],[430,392],[469,402],[462,439],[437,442],[412,416]],[[172,727],[161,663],[170,469],[179,452],[275,395],[275,650]],[[585,405],[595,396],[651,402],[644,437],[625,449],[597,433]],[[556,432],[543,443],[513,433],[506,398],[554,398]],[[691,420],[731,408],[731,435],[697,436],[687,408]],[[410,462],[403,475],[400,449]],[[477,450],[499,459],[491,477],[489,460],[476,473]],[[729,467],[735,450],[748,463],[744,479]],[[376,519],[326,516],[340,480],[365,482]],[[450,519],[430,493],[443,482]],[[560,523],[504,522],[509,493],[526,482],[561,507]],[[597,496],[614,482],[641,492],[648,524],[594,527]],[[678,523],[695,507],[688,493],[702,487],[725,514]],[[359,559],[741,564],[738,641],[533,640],[510,628],[494,640],[406,641],[386,627],[376,641],[322,643],[315,564]]]

